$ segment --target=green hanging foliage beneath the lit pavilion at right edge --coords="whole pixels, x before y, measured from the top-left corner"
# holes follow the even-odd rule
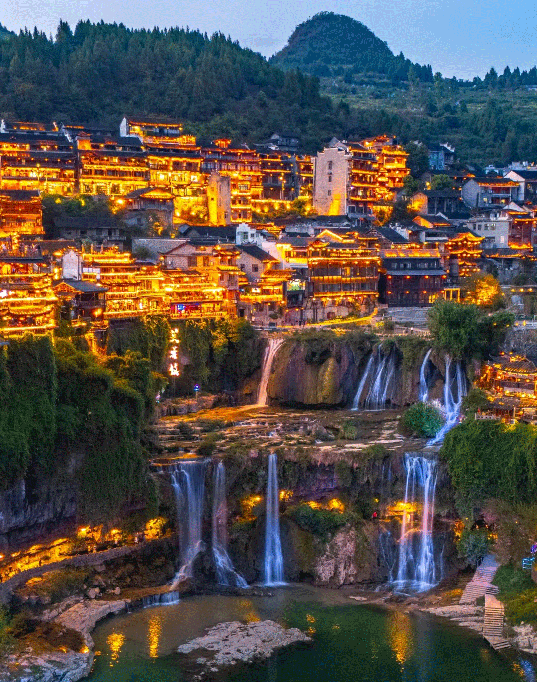
[[[470,523],[489,499],[531,504],[537,494],[537,428],[466,419],[446,434],[448,461],[459,513]]]

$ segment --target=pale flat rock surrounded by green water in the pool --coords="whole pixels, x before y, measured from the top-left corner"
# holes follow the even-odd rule
[[[295,642],[309,642],[311,638],[296,627],[286,629],[274,621],[258,623],[220,623],[206,634],[177,648],[179,653],[215,652],[212,657],[196,655],[192,663],[200,678],[209,672],[230,668],[238,663],[252,663],[266,659],[276,649]]]

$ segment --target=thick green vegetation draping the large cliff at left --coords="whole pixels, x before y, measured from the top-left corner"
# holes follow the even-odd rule
[[[80,518],[155,502],[140,434],[164,377],[139,351],[100,361],[69,340],[26,336],[0,352],[0,484],[74,476]],[[69,473],[74,466],[74,473]]]

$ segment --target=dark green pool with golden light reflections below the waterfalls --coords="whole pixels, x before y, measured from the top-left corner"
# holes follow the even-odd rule
[[[365,606],[311,587],[275,597],[189,597],[106,621],[93,635],[91,682],[186,680],[175,648],[224,621],[272,619],[313,637],[227,682],[537,682],[536,662],[500,655],[482,638],[425,614]]]

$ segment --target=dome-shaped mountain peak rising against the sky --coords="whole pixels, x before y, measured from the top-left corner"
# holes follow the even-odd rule
[[[333,12],[321,12],[297,26],[288,44],[270,61],[317,76],[374,73],[393,82],[407,80],[412,66],[422,82],[433,80],[430,65],[414,64],[403,53],[396,57],[363,23]]]

